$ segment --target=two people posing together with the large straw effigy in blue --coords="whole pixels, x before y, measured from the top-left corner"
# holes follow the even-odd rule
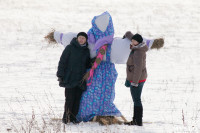
[[[143,125],[141,93],[147,79],[146,52],[151,47],[163,47],[164,41],[148,40],[130,31],[118,41],[113,36],[114,27],[108,12],[95,16],[92,28],[87,33],[52,32],[46,36],[66,46],[57,71],[59,85],[65,88],[63,123],[98,121],[102,124]],[[120,60],[119,56],[124,58],[120,57]],[[125,62],[125,86],[130,87],[134,103],[133,119],[130,122],[126,121],[113,103],[118,75],[115,63]],[[122,117],[125,122],[116,117]]]

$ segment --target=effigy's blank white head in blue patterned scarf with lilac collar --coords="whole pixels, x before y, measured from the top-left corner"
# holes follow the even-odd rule
[[[112,17],[108,12],[94,16],[92,28],[88,31],[88,42],[95,44],[97,50],[104,44],[111,44],[114,36]]]

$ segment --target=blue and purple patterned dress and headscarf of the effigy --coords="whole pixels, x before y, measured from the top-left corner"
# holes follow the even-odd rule
[[[105,32],[101,32],[97,29],[94,24],[95,19],[96,17],[94,17],[92,21],[93,27],[90,31],[92,30],[96,42],[99,38],[104,39],[107,35],[111,35],[111,32],[114,34],[111,17],[109,23],[110,27],[108,27]],[[106,61],[102,61],[94,70],[92,84],[87,86],[87,90],[82,94],[79,112],[76,116],[78,121],[87,122],[94,116],[121,116],[121,112],[113,103],[115,98],[115,82],[118,74],[115,65],[110,62],[112,42],[105,43],[104,41],[103,43],[108,44],[106,55],[104,55],[106,56]],[[96,51],[98,51],[98,49]]]

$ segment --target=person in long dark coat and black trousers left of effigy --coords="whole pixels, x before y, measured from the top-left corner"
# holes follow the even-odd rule
[[[82,92],[86,90],[83,76],[90,67],[90,52],[87,43],[88,36],[80,32],[73,38],[63,51],[57,71],[59,85],[65,87],[65,108],[63,123],[76,123],[76,115]]]

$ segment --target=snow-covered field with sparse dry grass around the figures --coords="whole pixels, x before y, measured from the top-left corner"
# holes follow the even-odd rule
[[[61,45],[48,45],[52,28],[87,32],[93,16],[108,11],[115,37],[131,30],[165,38],[147,53],[142,93],[144,126],[66,125],[64,88],[56,71]],[[0,132],[198,133],[200,132],[199,0],[0,0]],[[131,120],[125,64],[116,65],[115,104]]]

